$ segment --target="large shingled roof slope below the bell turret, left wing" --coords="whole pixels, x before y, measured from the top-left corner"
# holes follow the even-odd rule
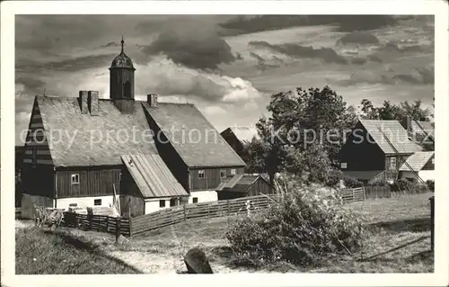
[[[157,153],[154,142],[142,132],[149,130],[149,125],[141,102],[134,103],[132,114],[122,114],[110,100],[100,100],[98,116],[82,114],[73,97],[37,95],[36,102],[55,166],[122,165],[121,155]],[[63,138],[51,140],[51,133],[58,130],[63,131]]]

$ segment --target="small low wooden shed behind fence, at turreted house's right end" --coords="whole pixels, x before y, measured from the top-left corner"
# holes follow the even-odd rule
[[[269,193],[269,182],[260,175],[234,175],[220,184],[216,191],[218,200]]]

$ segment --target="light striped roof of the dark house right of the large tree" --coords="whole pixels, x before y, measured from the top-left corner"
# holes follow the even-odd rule
[[[384,154],[396,154],[396,150],[400,154],[412,154],[422,150],[409,139],[407,130],[399,121],[360,120],[360,123]]]

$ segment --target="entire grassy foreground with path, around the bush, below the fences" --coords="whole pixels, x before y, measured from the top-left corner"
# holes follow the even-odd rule
[[[329,256],[320,266],[302,268],[279,263],[256,270],[235,262],[225,238],[228,224],[233,221],[229,217],[187,220],[137,235],[119,246],[114,244],[113,235],[93,231],[61,229],[55,235],[36,229],[20,230],[22,234],[16,234],[20,247],[16,249],[16,270],[22,274],[124,274],[136,273],[130,267],[134,266],[146,274],[173,274],[185,271],[182,256],[189,248],[201,247],[219,274],[432,273],[430,196],[416,194],[348,204],[345,208],[365,220],[371,236],[357,254]],[[72,239],[64,239],[64,234]],[[98,255],[92,250],[97,250]],[[34,257],[37,261],[32,261]]]

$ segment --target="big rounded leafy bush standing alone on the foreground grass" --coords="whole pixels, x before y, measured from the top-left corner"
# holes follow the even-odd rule
[[[315,265],[325,255],[361,247],[365,229],[350,211],[312,190],[295,186],[281,192],[278,204],[236,219],[227,230],[238,261]]]

